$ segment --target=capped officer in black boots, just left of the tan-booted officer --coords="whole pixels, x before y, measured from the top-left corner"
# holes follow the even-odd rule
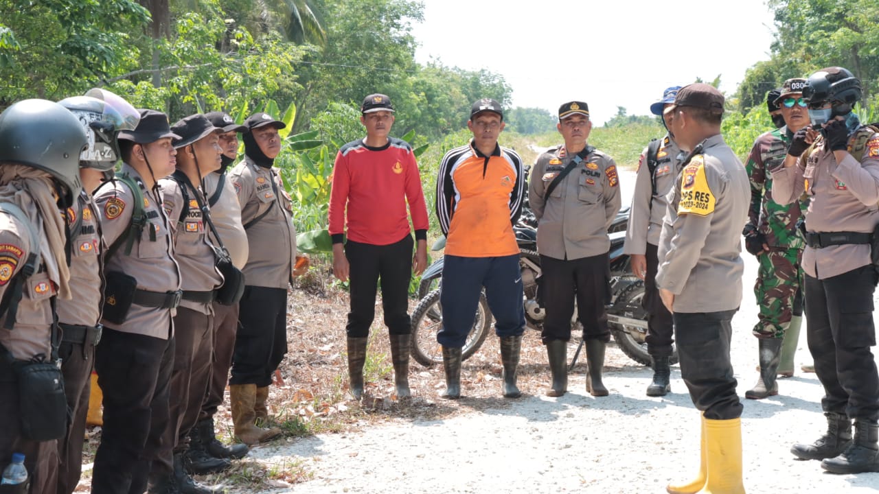
[[[247,234],[241,223],[241,207],[235,195],[235,186],[227,176],[229,165],[238,156],[238,134],[247,131],[247,127],[236,125],[228,113],[205,113],[207,120],[214,127],[222,128],[218,134],[222,155],[220,169],[207,173],[201,180],[202,188],[207,196],[207,204],[211,208],[211,219],[220,234],[223,245],[229,251],[232,264],[243,269],[247,264]],[[211,242],[219,244],[211,232]],[[211,378],[207,384],[205,401],[201,405],[199,421],[190,434],[189,449],[194,452],[205,449],[207,454],[216,458],[242,458],[248,452],[245,444],[224,446],[216,439],[214,432],[214,414],[222,404],[223,392],[229,383],[229,367],[232,366],[232,352],[235,348],[235,336],[238,331],[238,304],[223,305],[214,301],[214,361],[211,366]]]

